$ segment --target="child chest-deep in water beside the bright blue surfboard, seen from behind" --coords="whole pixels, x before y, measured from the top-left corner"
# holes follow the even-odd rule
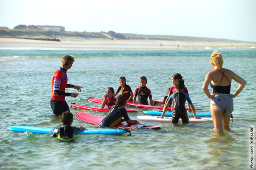
[[[75,138],[76,132],[85,130],[82,126],[71,126],[73,123],[73,114],[69,111],[61,114],[61,123],[63,123],[63,126],[55,129],[52,134],[52,137],[57,137],[61,141],[71,141]]]

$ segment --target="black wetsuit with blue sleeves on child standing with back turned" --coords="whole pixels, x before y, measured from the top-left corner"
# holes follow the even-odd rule
[[[176,91],[169,97],[167,103],[171,104],[173,102],[172,123],[178,123],[180,118],[182,119],[183,123],[189,122],[185,107],[186,101],[189,103],[189,105],[192,104],[189,95],[180,90]]]

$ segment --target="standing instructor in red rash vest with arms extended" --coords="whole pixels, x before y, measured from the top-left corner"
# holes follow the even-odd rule
[[[72,67],[73,62],[75,62],[73,56],[63,56],[61,68],[55,71],[52,76],[51,108],[56,116],[61,116],[64,111],[70,111],[65,96],[77,97],[79,95],[78,93],[65,93],[66,88],[74,88],[81,92],[82,86],[67,84],[67,70]]]

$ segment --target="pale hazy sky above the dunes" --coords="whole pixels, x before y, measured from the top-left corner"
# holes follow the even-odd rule
[[[0,0],[0,26],[256,42],[256,0]]]

